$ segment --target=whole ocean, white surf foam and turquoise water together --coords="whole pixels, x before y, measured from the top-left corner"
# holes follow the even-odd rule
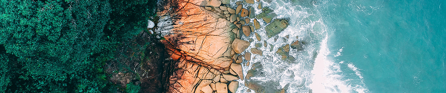
[[[268,47],[259,48],[264,56],[253,55],[256,59],[251,60],[260,62],[266,74],[252,79],[279,83],[266,87],[289,85],[288,93],[446,92],[446,0],[261,2],[277,13],[276,18],[290,20],[277,40],[266,36],[264,21],[256,30],[262,41],[242,37],[255,40],[248,49],[268,42]],[[296,40],[306,42],[304,50],[291,49],[295,60],[281,60],[277,49]],[[249,69],[244,67],[245,75]],[[240,86],[237,93],[246,89]]]

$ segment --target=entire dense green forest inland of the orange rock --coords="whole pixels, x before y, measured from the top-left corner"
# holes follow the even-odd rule
[[[0,0],[0,93],[120,91],[104,64],[147,31],[156,8],[157,0]]]

